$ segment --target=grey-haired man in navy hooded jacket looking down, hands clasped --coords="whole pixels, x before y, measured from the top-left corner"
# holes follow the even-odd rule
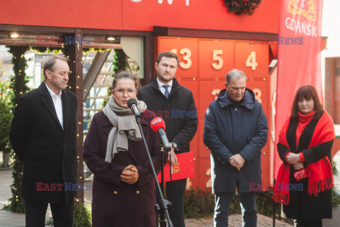
[[[227,74],[226,89],[205,113],[203,142],[211,151],[215,226],[228,226],[229,206],[237,192],[243,226],[256,226],[256,192],[261,192],[261,149],[266,145],[268,123],[254,92],[246,89],[246,75]]]

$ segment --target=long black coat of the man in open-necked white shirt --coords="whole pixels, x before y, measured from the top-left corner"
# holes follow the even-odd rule
[[[26,200],[59,203],[74,197],[74,192],[57,187],[76,182],[77,97],[74,93],[62,91],[62,107],[64,130],[45,82],[18,99],[9,140],[23,161],[21,194]]]

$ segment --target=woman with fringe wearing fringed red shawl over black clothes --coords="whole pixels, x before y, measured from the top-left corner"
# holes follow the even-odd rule
[[[334,123],[322,109],[317,90],[311,85],[300,87],[278,138],[283,164],[273,196],[295,226],[322,226],[322,218],[331,218],[334,137]]]

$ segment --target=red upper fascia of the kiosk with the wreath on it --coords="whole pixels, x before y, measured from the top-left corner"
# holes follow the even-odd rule
[[[153,31],[153,26],[166,26],[278,33],[277,0],[264,0],[253,16],[228,13],[223,0],[159,2],[162,0],[1,0],[0,24],[127,31]]]

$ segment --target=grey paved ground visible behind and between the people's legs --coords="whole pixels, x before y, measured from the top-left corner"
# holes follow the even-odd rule
[[[340,159],[339,159],[340,160]],[[338,167],[340,164],[338,165]],[[338,177],[339,178],[339,177]],[[6,204],[8,198],[11,197],[11,188],[9,187],[12,182],[11,170],[0,169],[0,209]],[[338,181],[340,182],[340,181]],[[86,204],[91,203],[91,192],[85,191]],[[51,217],[50,208],[47,210],[46,220]],[[339,226],[340,222],[340,206],[333,209],[333,219],[324,220],[324,227]],[[273,226],[272,218],[258,215],[258,225],[260,227]],[[25,214],[15,214],[8,211],[0,211],[0,227],[21,227],[25,226]],[[201,219],[186,219],[186,227],[212,227],[212,218]],[[242,226],[241,214],[234,214],[229,217],[229,226],[236,227]],[[292,226],[289,223],[276,220],[277,227]]]

